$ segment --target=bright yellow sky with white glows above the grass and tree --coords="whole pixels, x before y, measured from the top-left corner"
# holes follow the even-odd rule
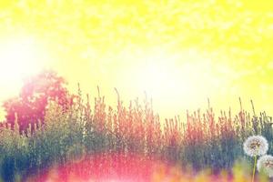
[[[160,116],[186,109],[273,115],[273,1],[0,1],[0,101],[52,68],[76,91],[116,104],[152,96]]]

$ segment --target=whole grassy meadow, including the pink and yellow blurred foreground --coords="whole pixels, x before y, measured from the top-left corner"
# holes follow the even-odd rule
[[[43,125],[23,133],[17,118],[13,128],[3,125],[2,181],[250,181],[253,160],[243,142],[265,136],[273,152],[272,117],[265,112],[241,108],[216,116],[208,107],[188,112],[187,120],[162,121],[147,98],[124,106],[116,93],[112,107],[99,93],[91,102],[78,89],[66,109],[49,103]]]

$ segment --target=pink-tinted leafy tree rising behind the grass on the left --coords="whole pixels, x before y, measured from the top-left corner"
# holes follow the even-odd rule
[[[17,115],[22,133],[29,124],[32,128],[38,121],[44,124],[45,108],[49,101],[56,101],[65,108],[72,103],[72,99],[66,89],[66,80],[54,71],[44,71],[26,79],[19,96],[5,100],[5,120],[14,128]]]

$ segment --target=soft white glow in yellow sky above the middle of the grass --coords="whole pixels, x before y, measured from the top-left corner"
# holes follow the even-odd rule
[[[155,56],[142,58],[142,64],[137,68],[132,67],[138,87],[145,90],[148,95],[162,98],[177,98],[199,96],[201,87],[206,98],[212,94],[212,87],[217,86],[217,80],[223,76],[217,74],[217,70],[211,66],[211,61],[201,54],[192,55],[191,51],[179,56],[157,53]],[[202,64],[198,60],[203,60]],[[181,64],[182,63],[182,64]],[[218,76],[218,77],[216,77]],[[203,79],[203,82],[200,80]],[[206,91],[206,92],[205,92]]]

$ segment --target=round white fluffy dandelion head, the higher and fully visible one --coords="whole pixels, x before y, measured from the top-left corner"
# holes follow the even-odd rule
[[[249,136],[244,151],[250,157],[263,156],[268,152],[268,141],[264,136]]]

